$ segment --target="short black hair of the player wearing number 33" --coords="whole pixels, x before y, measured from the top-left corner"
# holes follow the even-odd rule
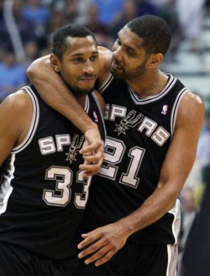
[[[69,24],[61,27],[53,34],[52,39],[52,53],[62,61],[63,53],[69,46],[66,43],[67,37],[87,37],[92,36],[97,45],[94,34],[84,25],[80,24]]]

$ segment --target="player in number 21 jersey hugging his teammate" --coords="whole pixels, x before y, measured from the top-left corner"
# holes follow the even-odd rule
[[[176,276],[177,198],[195,159],[204,108],[198,96],[159,69],[170,39],[164,20],[143,16],[120,30],[113,53],[100,48],[97,83],[107,104],[107,140],[78,245],[79,258],[89,264],[81,275]],[[39,66],[58,86],[45,62]],[[36,64],[29,77],[30,70],[39,76]],[[43,94],[44,77],[42,85],[32,81]],[[52,88],[45,100],[57,94]],[[69,104],[53,106],[75,121]]]

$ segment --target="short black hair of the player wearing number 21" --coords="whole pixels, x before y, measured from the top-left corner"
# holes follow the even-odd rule
[[[168,24],[160,17],[145,15],[131,20],[127,27],[137,36],[141,37],[143,47],[147,54],[167,52],[170,41],[171,31]]]

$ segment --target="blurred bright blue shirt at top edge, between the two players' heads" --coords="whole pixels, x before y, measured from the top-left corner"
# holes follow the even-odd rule
[[[105,25],[110,25],[122,11],[124,0],[94,0],[94,4],[99,11],[99,21]]]

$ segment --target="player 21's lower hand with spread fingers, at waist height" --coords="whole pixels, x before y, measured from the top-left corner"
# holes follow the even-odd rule
[[[80,259],[87,257],[85,263],[95,262],[95,266],[109,261],[125,244],[130,232],[119,222],[97,228],[89,233],[82,234],[84,240],[78,244]]]

